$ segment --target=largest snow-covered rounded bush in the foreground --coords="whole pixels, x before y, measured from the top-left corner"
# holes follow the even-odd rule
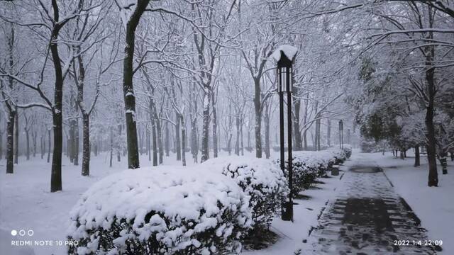
[[[252,225],[249,198],[231,178],[159,166],[107,176],[70,212],[69,254],[238,253]]]

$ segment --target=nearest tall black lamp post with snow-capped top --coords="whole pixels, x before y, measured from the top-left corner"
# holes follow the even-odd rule
[[[280,154],[281,169],[285,174],[284,155],[284,94],[287,94],[287,146],[288,146],[288,180],[289,198],[282,206],[282,220],[293,220],[293,171],[292,171],[292,65],[297,48],[282,45],[273,52],[272,57],[277,61],[277,91],[279,92],[279,120],[280,120]]]

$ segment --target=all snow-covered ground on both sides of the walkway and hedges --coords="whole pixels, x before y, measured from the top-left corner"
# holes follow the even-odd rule
[[[416,215],[421,219],[422,227],[428,229],[428,237],[443,240],[443,253],[454,252],[454,167],[448,162],[448,175],[439,175],[438,188],[428,188],[426,158],[421,157],[421,166],[414,168],[413,159],[394,159],[392,154],[362,154],[353,152],[345,165],[354,164],[359,156],[370,158],[384,168],[394,187]],[[411,155],[409,155],[411,156]],[[253,157],[251,155],[251,157]],[[45,159],[26,161],[20,158],[20,164],[15,167],[14,174],[0,173],[0,246],[1,254],[65,254],[65,233],[70,224],[69,212],[79,197],[89,186],[109,174],[126,169],[126,160],[114,161],[114,167],[109,168],[107,154],[92,158],[91,176],[82,177],[80,166],[73,166],[65,158],[62,171],[63,191],[50,193],[50,164]],[[1,169],[6,162],[0,161]],[[165,159],[165,164],[177,165],[175,155]],[[192,160],[188,160],[192,164]],[[148,157],[141,158],[142,166],[150,166]],[[440,168],[441,169],[441,168]],[[341,172],[342,175],[342,172]],[[276,217],[272,222],[272,231],[279,234],[276,244],[260,251],[243,251],[243,254],[293,254],[304,247],[302,242],[309,235],[309,229],[315,227],[317,217],[328,200],[336,197],[336,188],[340,186],[339,176],[321,179],[325,184],[317,184],[318,189],[304,191],[309,200],[295,200],[294,222],[284,222]],[[53,241],[53,245],[14,247],[11,246],[11,230],[33,230],[33,237],[14,239]]]

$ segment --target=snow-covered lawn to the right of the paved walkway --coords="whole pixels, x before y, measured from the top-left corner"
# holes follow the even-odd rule
[[[428,230],[428,238],[443,240],[443,251],[438,254],[454,254],[454,162],[448,162],[445,175],[438,165],[438,188],[429,188],[427,158],[421,157],[421,166],[414,167],[414,154],[408,155],[405,160],[394,159],[389,152],[371,156],[419,217],[421,226]]]

